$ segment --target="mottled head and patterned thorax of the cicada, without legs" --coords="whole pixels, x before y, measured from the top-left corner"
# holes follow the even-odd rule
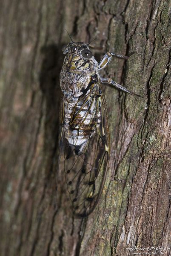
[[[66,57],[60,73],[61,89],[64,95],[78,97],[95,75],[98,63],[83,42],[67,44],[63,53]]]

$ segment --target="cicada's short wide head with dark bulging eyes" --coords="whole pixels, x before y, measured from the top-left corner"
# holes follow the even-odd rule
[[[74,53],[85,59],[91,59],[93,57],[93,54],[88,47],[88,44],[85,44],[83,42],[69,43],[63,46],[62,51],[64,54]]]

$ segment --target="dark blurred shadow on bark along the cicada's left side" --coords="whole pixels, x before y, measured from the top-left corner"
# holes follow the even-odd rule
[[[46,118],[45,118],[45,143],[44,148],[47,152],[52,149],[51,159],[54,159],[58,151],[58,135],[60,131],[60,70],[64,55],[62,45],[51,44],[41,49],[44,55],[40,72],[40,89],[46,100]],[[53,145],[53,148],[51,147]],[[51,171],[53,161],[49,163]],[[49,168],[48,168],[49,169]],[[51,172],[47,172],[47,178]]]

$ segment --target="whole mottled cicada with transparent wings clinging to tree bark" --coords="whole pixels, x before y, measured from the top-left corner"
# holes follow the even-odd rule
[[[110,155],[110,128],[102,84],[108,83],[132,95],[140,95],[99,75],[113,56],[128,57],[107,52],[98,64],[88,44],[74,41],[62,51],[66,55],[60,72],[62,168],[74,214],[85,217],[100,199]]]

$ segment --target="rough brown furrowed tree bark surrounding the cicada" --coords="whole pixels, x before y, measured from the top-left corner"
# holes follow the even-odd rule
[[[0,8],[0,254],[125,256],[171,243],[171,1],[3,0]],[[59,73],[68,43],[131,55],[103,76],[111,158],[103,195],[74,219],[58,168]],[[167,250],[164,255],[169,255]]]

